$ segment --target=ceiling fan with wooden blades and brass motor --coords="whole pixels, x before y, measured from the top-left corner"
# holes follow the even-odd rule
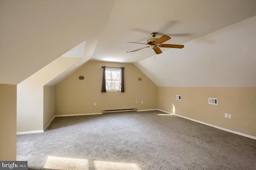
[[[162,53],[161,49],[159,47],[164,47],[164,48],[183,48],[184,45],[175,45],[175,44],[163,44],[164,42],[170,40],[171,38],[169,36],[162,36],[160,38],[155,38],[155,36],[157,35],[157,32],[152,32],[151,36],[153,38],[150,38],[147,40],[147,43],[141,43],[141,44],[145,44],[148,45],[147,47],[143,47],[140,49],[135,49],[133,51],[127,51],[128,53],[130,52],[134,52],[134,51],[138,51],[144,48],[148,48],[151,47],[152,49],[154,49],[156,54],[160,54]],[[128,42],[128,43],[136,43],[136,42]]]

